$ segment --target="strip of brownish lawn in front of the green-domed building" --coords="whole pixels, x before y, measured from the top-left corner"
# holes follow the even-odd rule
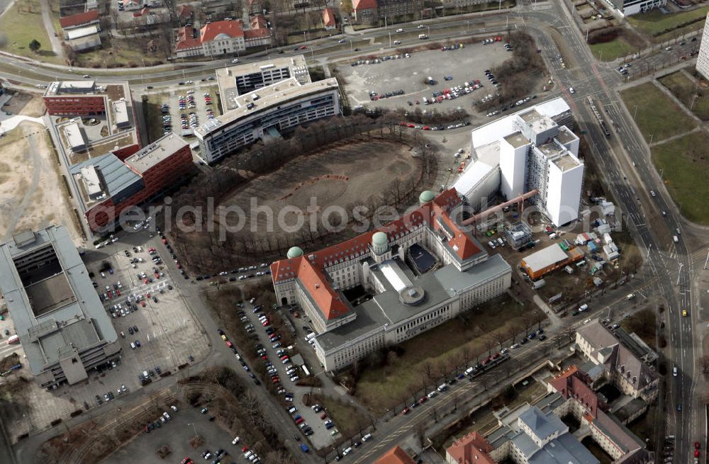
[[[462,366],[465,349],[472,353],[473,361],[476,354],[485,353],[487,356],[484,334],[505,334],[511,327],[517,327],[520,332],[524,329],[523,307],[508,298],[488,302],[465,315],[467,322],[453,319],[403,342],[400,345],[403,349],[401,356],[389,358],[386,366],[362,368],[355,396],[369,410],[381,414],[397,404],[401,405],[403,400],[411,402],[409,388],[411,385],[421,387],[425,363],[432,365],[432,371],[438,377],[441,367],[450,371],[452,366]],[[493,351],[496,349],[498,346]]]

